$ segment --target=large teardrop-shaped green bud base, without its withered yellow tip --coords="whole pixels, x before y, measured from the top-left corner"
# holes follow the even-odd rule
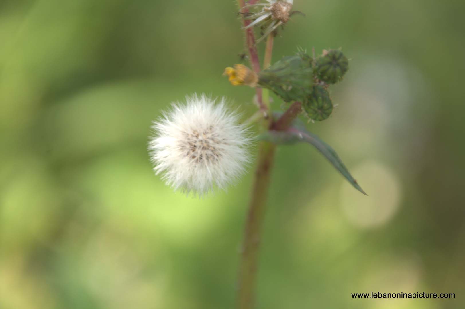
[[[259,73],[259,85],[284,101],[300,101],[312,93],[313,69],[305,53],[287,56]]]

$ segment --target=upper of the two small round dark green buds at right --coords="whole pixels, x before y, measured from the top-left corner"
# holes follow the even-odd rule
[[[332,49],[316,59],[316,69],[319,79],[335,84],[349,69],[349,60],[339,49]]]

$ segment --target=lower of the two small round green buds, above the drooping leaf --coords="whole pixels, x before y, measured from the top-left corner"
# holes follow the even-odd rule
[[[332,101],[322,86],[314,86],[312,94],[303,101],[304,110],[313,120],[325,120],[332,113]]]

